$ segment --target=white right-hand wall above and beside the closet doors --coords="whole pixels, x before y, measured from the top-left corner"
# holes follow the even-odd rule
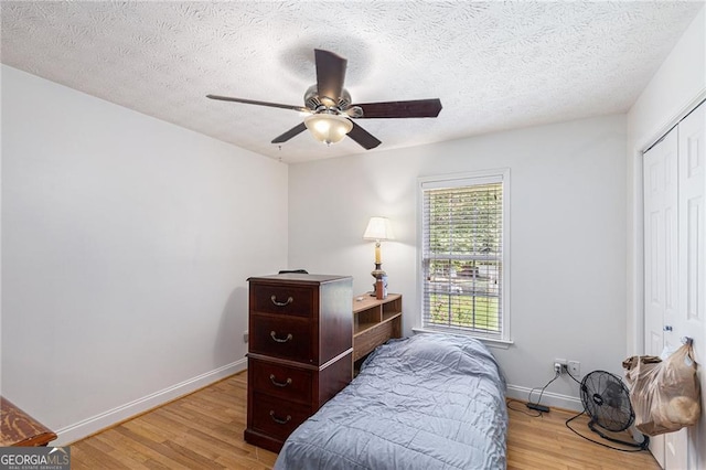
[[[642,354],[642,151],[706,98],[706,7],[628,113],[628,354]]]

